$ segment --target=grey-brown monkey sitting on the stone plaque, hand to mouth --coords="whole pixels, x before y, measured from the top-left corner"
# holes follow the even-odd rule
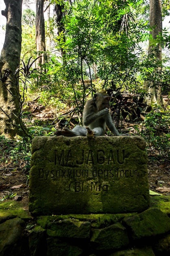
[[[113,124],[109,112],[110,99],[111,97],[106,92],[94,94],[93,98],[85,104],[83,110],[83,126],[76,125],[72,130],[64,128],[63,130],[56,131],[55,135],[81,135],[94,138],[105,135],[107,126],[114,136],[119,136],[120,134]]]

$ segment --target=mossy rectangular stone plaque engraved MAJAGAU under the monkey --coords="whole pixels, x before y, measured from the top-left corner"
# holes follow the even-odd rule
[[[149,207],[140,136],[35,137],[29,210],[35,215],[140,212]]]

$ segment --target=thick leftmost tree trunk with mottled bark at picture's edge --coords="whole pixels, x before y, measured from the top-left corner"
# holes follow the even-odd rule
[[[7,18],[7,25],[0,56],[0,134],[14,137],[19,124],[19,85],[14,72],[20,64],[22,0],[4,0],[4,3],[6,9],[2,15]]]

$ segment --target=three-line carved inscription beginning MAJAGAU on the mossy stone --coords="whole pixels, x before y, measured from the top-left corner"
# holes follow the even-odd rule
[[[63,184],[74,193],[89,191],[107,193],[109,184],[115,179],[140,177],[138,170],[121,168],[125,160],[125,150],[119,149],[108,152],[104,150],[94,152],[90,149],[80,150],[78,153],[71,149],[57,149],[54,150],[54,168],[49,171],[46,168],[40,168],[39,179],[56,181],[63,179]],[[88,166],[87,169],[86,166]],[[105,169],[106,166],[107,169]]]

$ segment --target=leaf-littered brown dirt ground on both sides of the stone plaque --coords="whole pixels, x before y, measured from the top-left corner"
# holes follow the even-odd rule
[[[11,142],[11,148],[15,144]],[[0,201],[21,200],[28,207],[29,169],[23,153],[11,159],[9,145],[0,140]],[[170,195],[170,161],[158,160],[157,153],[148,151],[148,182],[151,191]]]

